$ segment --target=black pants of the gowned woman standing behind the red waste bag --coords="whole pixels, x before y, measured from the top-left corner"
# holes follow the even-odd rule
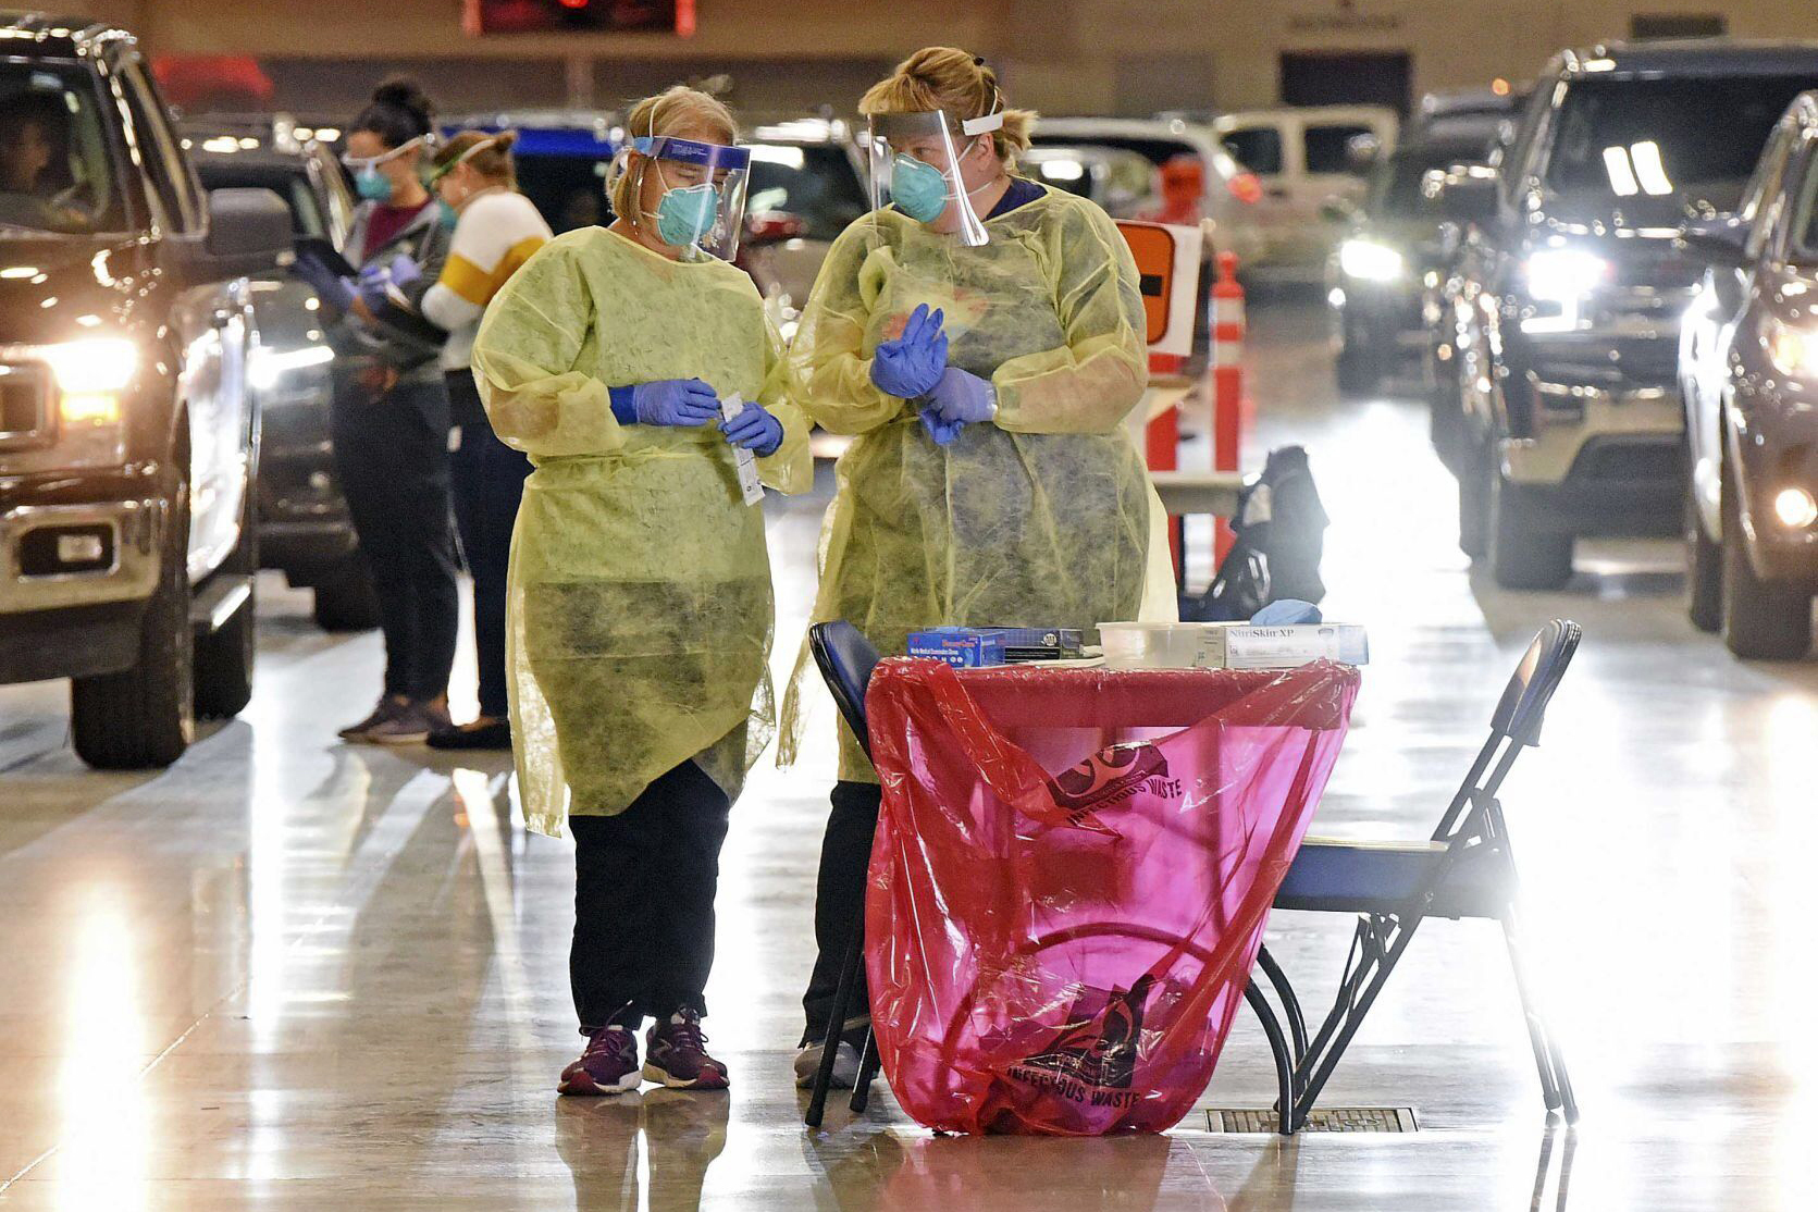
[[[871,865],[871,838],[878,832],[878,807],[884,789],[876,783],[834,783],[827,836],[820,843],[820,878],[814,883],[814,972],[807,978],[802,1008],[807,1030],[802,1043],[827,1036],[827,1016],[840,988],[840,967],[853,930],[865,919],[865,869]],[[847,1016],[869,1012],[865,970],[858,970],[858,992]]]

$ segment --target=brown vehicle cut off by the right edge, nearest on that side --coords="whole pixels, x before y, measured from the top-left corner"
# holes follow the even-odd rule
[[[1798,658],[1818,592],[1818,93],[1767,140],[1733,216],[1687,229],[1713,263],[1685,313],[1693,623],[1736,656]]]

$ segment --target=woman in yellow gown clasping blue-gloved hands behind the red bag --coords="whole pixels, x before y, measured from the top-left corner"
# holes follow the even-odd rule
[[[1085,198],[1016,174],[1034,114],[1007,105],[980,58],[918,51],[860,113],[880,205],[834,242],[793,353],[807,414],[854,436],[822,534],[813,618],[849,620],[884,654],[934,625],[1091,632],[1173,618],[1160,502],[1124,427],[1147,385],[1124,238]],[[864,912],[878,805],[876,772],[840,725],[802,1085],[820,1065],[842,952]],[[867,1021],[844,1030],[856,1041]],[[856,1061],[842,1043],[836,1081],[849,1083]]]

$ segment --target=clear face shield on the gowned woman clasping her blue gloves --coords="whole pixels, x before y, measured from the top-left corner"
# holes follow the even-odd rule
[[[969,247],[985,243],[985,225],[973,209],[960,164],[962,156],[974,154],[980,138],[1002,127],[1002,113],[982,118],[953,118],[938,109],[873,114],[865,140],[871,205],[891,204],[918,224],[956,234]]]

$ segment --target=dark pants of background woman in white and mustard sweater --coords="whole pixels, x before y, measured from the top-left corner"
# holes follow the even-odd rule
[[[504,716],[505,703],[505,572],[511,527],[524,500],[531,460],[498,440],[480,409],[473,374],[447,376],[460,445],[449,456],[454,476],[454,525],[473,572],[473,643],[480,660],[480,714]]]

